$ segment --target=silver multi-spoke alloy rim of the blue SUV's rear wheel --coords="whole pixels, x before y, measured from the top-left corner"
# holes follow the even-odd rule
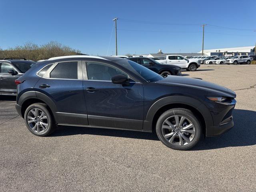
[[[27,122],[30,129],[36,134],[43,133],[48,128],[48,117],[38,108],[33,108],[28,112]]]

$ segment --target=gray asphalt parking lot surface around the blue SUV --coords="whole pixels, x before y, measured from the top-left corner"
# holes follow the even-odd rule
[[[234,90],[235,126],[189,151],[154,134],[59,127],[32,135],[0,97],[0,191],[256,191],[256,65],[202,65],[182,76]]]

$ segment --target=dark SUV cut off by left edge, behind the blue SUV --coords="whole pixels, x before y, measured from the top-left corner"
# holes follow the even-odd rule
[[[35,64],[25,58],[0,59],[0,95],[16,95],[17,86],[14,81]]]

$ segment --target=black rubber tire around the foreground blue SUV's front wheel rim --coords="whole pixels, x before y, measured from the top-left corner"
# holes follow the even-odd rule
[[[186,119],[190,120],[190,122],[192,122],[192,124],[194,124],[194,131],[195,131],[194,137],[192,138],[192,140],[189,143],[184,144],[183,146],[180,146],[180,145],[178,146],[175,143],[170,143],[168,141],[168,138],[164,138],[164,133],[162,131],[162,126],[163,126],[164,122],[168,118],[172,118],[172,116],[183,116]],[[180,120],[181,120],[181,118],[180,118]],[[177,133],[178,134],[185,134],[184,132],[182,133],[181,130],[174,132],[174,135],[177,134]],[[172,131],[170,131],[170,133],[171,132]],[[159,140],[164,145],[166,145],[167,147],[172,148],[174,150],[188,150],[188,149],[194,147],[198,143],[198,141],[200,140],[201,134],[202,134],[202,128],[201,128],[201,124],[200,124],[199,120],[196,118],[196,116],[190,110],[185,109],[185,108],[174,108],[174,109],[170,109],[170,110],[164,112],[158,118],[158,121],[156,122],[156,134],[157,134]],[[167,133],[167,134],[169,134],[169,133]],[[190,135],[190,137],[191,136],[192,135]],[[186,141],[185,141],[185,143],[186,143]]]

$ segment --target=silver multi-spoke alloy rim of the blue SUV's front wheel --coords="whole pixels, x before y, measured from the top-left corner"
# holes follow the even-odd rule
[[[162,124],[162,136],[176,146],[184,146],[192,142],[196,134],[190,119],[180,115],[168,117]]]

